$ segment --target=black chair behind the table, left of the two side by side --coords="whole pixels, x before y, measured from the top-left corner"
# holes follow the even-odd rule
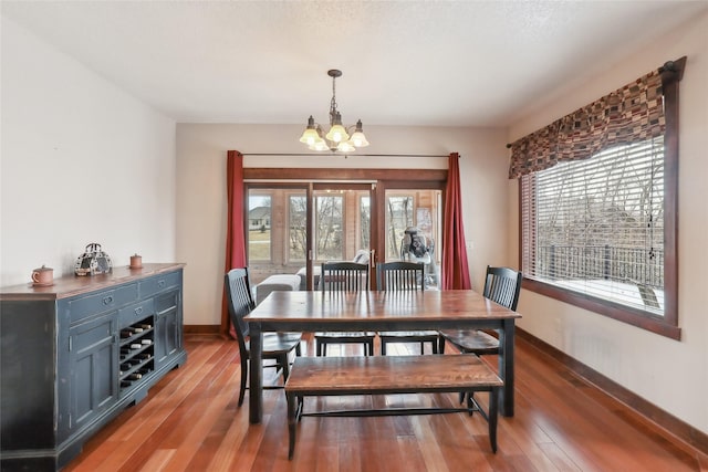
[[[320,271],[322,292],[343,294],[345,292],[364,292],[368,290],[368,264],[356,262],[324,262]],[[327,355],[330,344],[362,344],[364,355],[374,354],[374,338],[371,332],[317,332],[314,334],[317,356]]]

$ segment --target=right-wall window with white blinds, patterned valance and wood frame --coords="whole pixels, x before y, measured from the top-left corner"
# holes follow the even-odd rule
[[[667,63],[511,146],[524,289],[680,338],[681,73]]]

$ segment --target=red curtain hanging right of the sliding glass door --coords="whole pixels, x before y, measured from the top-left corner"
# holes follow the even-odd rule
[[[442,290],[471,289],[465,225],[462,224],[462,200],[460,196],[459,155],[448,158],[447,188],[445,189],[445,213],[442,216]]]

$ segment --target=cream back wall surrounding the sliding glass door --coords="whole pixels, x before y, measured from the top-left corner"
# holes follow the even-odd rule
[[[304,125],[303,125],[304,126]],[[303,126],[177,125],[177,258],[185,271],[185,323],[218,325],[226,245],[226,155],[303,153]],[[507,133],[502,129],[367,126],[372,145],[363,154],[442,155],[459,153],[462,208],[472,284],[487,264],[506,264]],[[274,138],[273,136],[278,136]],[[447,158],[382,158],[319,155],[246,156],[246,167],[447,168]]]

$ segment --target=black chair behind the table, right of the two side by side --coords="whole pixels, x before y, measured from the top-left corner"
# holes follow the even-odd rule
[[[376,265],[376,284],[379,291],[424,291],[425,264],[423,262],[383,262]],[[425,354],[425,344],[430,343],[433,354],[438,353],[439,333],[437,331],[379,332],[381,354],[386,355],[389,343],[418,343],[420,354]]]

